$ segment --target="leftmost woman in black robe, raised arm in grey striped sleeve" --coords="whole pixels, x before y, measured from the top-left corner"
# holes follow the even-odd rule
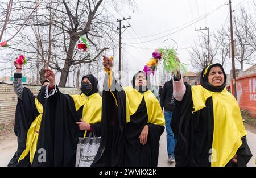
[[[14,61],[14,66],[16,67],[16,72],[14,73],[13,85],[14,91],[18,96],[18,103],[15,111],[14,133],[17,136],[18,148],[13,158],[11,158],[8,166],[26,167],[31,165],[32,159],[32,157],[30,158],[29,151],[26,154],[23,154],[26,148],[27,150],[30,150],[30,147],[26,146],[28,130],[30,129],[31,124],[35,121],[35,119],[40,114],[42,114],[39,113],[36,104],[44,106],[44,94],[46,91],[46,86],[49,84],[49,81],[44,80],[42,82],[41,89],[38,95],[34,96],[30,89],[28,89],[27,87],[23,87],[22,85],[22,64],[17,64],[16,61]],[[22,154],[24,156],[20,157]]]

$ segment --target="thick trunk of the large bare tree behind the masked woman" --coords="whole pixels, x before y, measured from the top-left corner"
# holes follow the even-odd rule
[[[71,34],[71,39],[69,40],[68,53],[67,53],[65,64],[64,64],[63,70],[61,71],[61,76],[60,76],[60,83],[59,83],[60,87],[65,87],[67,78],[68,78],[68,72],[73,63],[73,53],[75,50],[75,45],[77,40],[79,40],[79,37],[75,33],[76,32]]]

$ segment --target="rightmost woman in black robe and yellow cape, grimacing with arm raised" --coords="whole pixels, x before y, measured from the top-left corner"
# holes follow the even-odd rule
[[[237,101],[226,91],[222,65],[205,67],[201,85],[183,84],[179,72],[173,83],[176,166],[246,166],[252,155]]]

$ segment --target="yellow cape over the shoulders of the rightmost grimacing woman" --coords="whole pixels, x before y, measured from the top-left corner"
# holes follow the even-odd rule
[[[222,92],[211,92],[201,85],[191,86],[193,113],[203,109],[207,98],[213,102],[213,143],[212,166],[225,166],[242,145],[241,137],[246,135],[240,108],[226,89]]]

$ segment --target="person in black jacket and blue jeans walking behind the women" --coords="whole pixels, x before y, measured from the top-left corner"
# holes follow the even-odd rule
[[[174,147],[176,144],[174,133],[171,129],[172,111],[175,106],[175,98],[172,95],[172,91],[172,80],[170,80],[164,84],[163,92],[160,97],[160,104],[162,109],[164,109],[164,119],[166,120],[168,163],[174,162]]]

